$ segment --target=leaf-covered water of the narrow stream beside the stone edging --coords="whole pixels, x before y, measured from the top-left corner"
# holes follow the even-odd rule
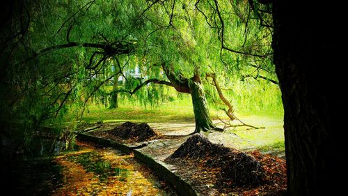
[[[77,150],[35,160],[19,186],[23,195],[177,195],[132,154],[77,142]],[[31,161],[31,163],[33,163]],[[40,168],[39,168],[40,167]],[[24,168],[23,168],[24,169]],[[25,172],[29,170],[24,169]],[[41,176],[39,180],[36,176]],[[39,184],[38,181],[41,183]]]

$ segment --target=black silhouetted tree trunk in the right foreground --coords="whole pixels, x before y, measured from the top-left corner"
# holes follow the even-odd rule
[[[347,37],[338,3],[275,1],[274,63],[284,105],[288,195],[341,195]],[[342,5],[341,5],[342,7]],[[314,13],[313,13],[314,11]],[[336,26],[335,22],[342,22]],[[345,87],[341,87],[345,88]],[[341,112],[340,112],[341,111]],[[341,194],[340,194],[341,193]]]

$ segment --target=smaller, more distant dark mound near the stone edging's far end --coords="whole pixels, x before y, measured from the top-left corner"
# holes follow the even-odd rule
[[[134,140],[143,142],[156,136],[156,133],[148,126],[147,123],[125,122],[111,130],[111,134],[120,137],[123,140]]]

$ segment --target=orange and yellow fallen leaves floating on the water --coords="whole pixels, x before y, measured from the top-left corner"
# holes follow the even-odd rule
[[[52,195],[167,195],[150,169],[132,154],[80,145],[81,153],[56,158],[63,166],[63,184]]]

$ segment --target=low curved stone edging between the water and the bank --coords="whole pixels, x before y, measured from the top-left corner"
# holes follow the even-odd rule
[[[198,195],[198,193],[196,193],[196,191],[193,190],[192,186],[189,183],[182,180],[179,176],[171,172],[171,169],[168,169],[165,163],[162,163],[161,161],[156,161],[150,156],[146,156],[140,151],[137,151],[136,149],[132,149],[132,147],[130,146],[127,146],[125,144],[120,144],[118,142],[114,142],[111,140],[94,137],[92,135],[87,135],[84,133],[80,133],[79,135],[77,135],[77,138],[79,140],[95,142],[96,144],[102,144],[104,146],[113,147],[125,153],[134,153],[134,158],[136,158],[137,160],[140,160],[142,163],[144,163],[145,165],[153,169],[155,172],[157,172],[157,174],[159,175],[159,178],[164,179],[165,181],[170,183],[171,186],[173,186],[175,190],[177,190],[177,192],[180,193],[180,195],[187,195],[187,196]]]

